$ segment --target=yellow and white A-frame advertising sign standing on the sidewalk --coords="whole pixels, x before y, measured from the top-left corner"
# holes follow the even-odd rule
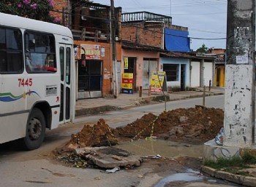
[[[151,92],[162,92],[162,88],[165,90],[165,87],[166,87],[165,71],[153,71],[151,75],[150,85],[151,85]]]

